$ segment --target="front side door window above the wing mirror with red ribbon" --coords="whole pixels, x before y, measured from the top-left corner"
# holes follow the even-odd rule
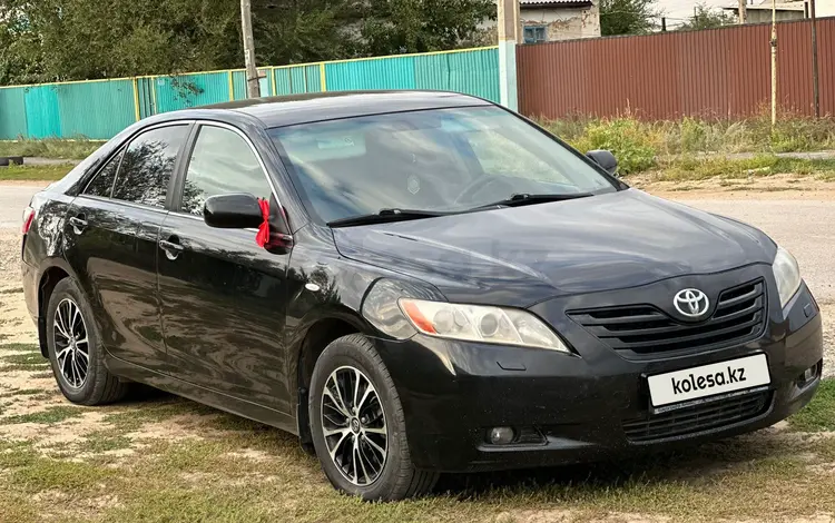
[[[235,131],[203,126],[188,161],[181,210],[203,216],[206,198],[248,193],[269,199],[266,172],[249,144]]]

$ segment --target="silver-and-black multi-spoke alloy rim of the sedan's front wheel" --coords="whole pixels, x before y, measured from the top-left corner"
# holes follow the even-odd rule
[[[322,434],[331,461],[352,484],[369,486],[389,455],[385,412],[376,388],[362,371],[343,366],[322,392]]]

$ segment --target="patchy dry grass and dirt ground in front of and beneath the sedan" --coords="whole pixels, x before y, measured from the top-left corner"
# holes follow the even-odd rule
[[[0,345],[0,357],[29,362],[36,349]],[[335,493],[281,431],[165,394],[98,408],[56,404],[41,385],[49,382],[21,381],[21,372],[45,374],[0,372],[0,407],[28,409],[0,413],[3,522],[783,522],[835,513],[835,382],[778,428],[591,466],[448,476],[426,499],[364,504]]]

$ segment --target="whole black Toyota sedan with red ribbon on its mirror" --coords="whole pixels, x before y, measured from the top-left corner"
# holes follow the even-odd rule
[[[762,428],[823,367],[795,258],[491,102],[264,98],[139,121],[37,194],[71,402],[145,383],[298,435],[366,500]]]

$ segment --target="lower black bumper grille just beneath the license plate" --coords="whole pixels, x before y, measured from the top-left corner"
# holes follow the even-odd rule
[[[721,428],[759,416],[768,408],[769,399],[770,393],[764,391],[662,414],[648,414],[641,420],[625,421],[623,432],[629,441],[641,443]]]

